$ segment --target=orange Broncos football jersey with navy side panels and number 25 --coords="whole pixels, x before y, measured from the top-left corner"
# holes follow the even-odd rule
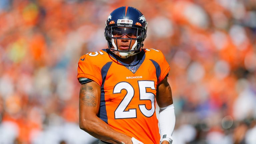
[[[98,117],[111,128],[144,144],[159,144],[155,96],[169,64],[155,49],[143,49],[131,64],[115,57],[108,49],[83,55],[77,78],[89,78],[101,86]]]

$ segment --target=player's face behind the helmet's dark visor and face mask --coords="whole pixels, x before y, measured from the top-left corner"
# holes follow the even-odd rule
[[[112,30],[113,37],[117,38],[114,40],[115,44],[118,46],[118,50],[127,51],[132,48],[135,41],[131,38],[137,37],[137,30],[133,28],[117,27]],[[138,34],[140,35],[140,33]],[[128,38],[128,39],[119,39],[119,38]],[[130,46],[130,48],[129,48]]]

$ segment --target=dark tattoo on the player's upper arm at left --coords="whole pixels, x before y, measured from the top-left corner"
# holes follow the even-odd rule
[[[87,84],[83,84],[80,89],[80,95],[83,95],[82,101],[83,104],[89,107],[95,107],[96,106],[96,97],[93,94],[93,88],[92,86],[88,86]]]

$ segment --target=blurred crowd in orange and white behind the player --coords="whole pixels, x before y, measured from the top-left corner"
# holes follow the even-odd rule
[[[256,143],[256,0],[0,0],[0,143],[94,144],[79,129],[77,62],[133,6],[171,66],[173,144]]]

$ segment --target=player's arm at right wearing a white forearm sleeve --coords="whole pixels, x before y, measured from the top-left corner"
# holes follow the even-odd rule
[[[159,128],[161,144],[172,143],[172,133],[175,126],[175,114],[172,100],[172,90],[167,81],[167,76],[157,87],[156,101],[160,107]]]

